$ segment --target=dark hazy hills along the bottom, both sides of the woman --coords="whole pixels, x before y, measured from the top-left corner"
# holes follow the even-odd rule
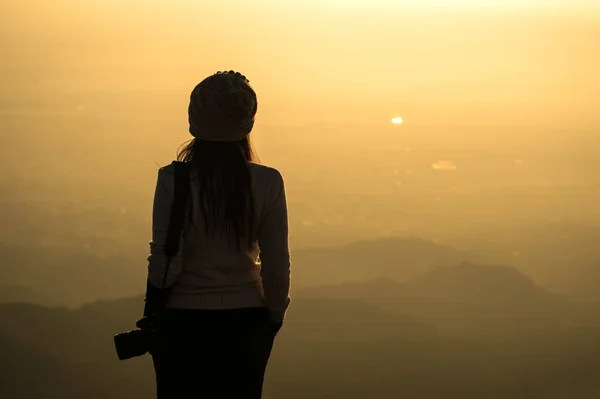
[[[141,297],[74,310],[1,305],[3,397],[151,397],[149,358],[119,362],[112,347],[112,334],[131,328],[141,308]],[[265,398],[598,397],[598,314],[599,305],[565,303],[514,270],[471,264],[403,284],[299,292]],[[449,328],[453,318],[465,328]],[[494,323],[510,334],[477,329]]]

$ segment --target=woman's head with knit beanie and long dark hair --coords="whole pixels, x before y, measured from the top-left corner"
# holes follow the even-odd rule
[[[256,93],[239,72],[217,72],[190,96],[190,133],[177,159],[189,162],[199,185],[197,204],[209,238],[227,237],[238,249],[254,240],[254,198],[248,162]],[[193,205],[194,209],[195,206]]]

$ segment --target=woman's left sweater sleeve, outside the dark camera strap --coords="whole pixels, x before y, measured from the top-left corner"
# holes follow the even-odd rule
[[[167,243],[174,192],[174,170],[169,166],[159,169],[152,207],[152,241],[150,241],[150,255],[148,256],[148,283],[157,288],[162,288],[163,282],[165,282],[165,288],[173,285],[182,270],[182,245],[180,244],[179,251],[169,263],[168,275],[165,279],[168,263],[165,245]]]

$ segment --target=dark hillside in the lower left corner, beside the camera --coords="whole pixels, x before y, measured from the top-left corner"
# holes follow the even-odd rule
[[[116,304],[115,304],[116,305]],[[119,314],[120,306],[113,309]],[[140,384],[140,362],[114,359],[112,332],[118,317],[30,304],[0,306],[2,391],[7,398],[148,397]],[[127,324],[131,324],[128,322]],[[120,330],[118,330],[120,331]],[[116,369],[116,366],[120,366]],[[148,375],[148,373],[146,373]]]

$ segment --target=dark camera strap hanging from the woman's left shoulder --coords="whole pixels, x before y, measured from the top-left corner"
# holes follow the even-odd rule
[[[179,251],[179,242],[181,232],[185,222],[185,211],[188,198],[190,196],[190,165],[185,162],[173,161],[175,167],[175,189],[173,192],[173,204],[171,206],[171,218],[169,219],[169,229],[167,230],[167,242],[165,244],[165,253],[167,255],[167,266],[163,278],[162,288],[165,288],[167,275],[171,258],[177,255]]]

